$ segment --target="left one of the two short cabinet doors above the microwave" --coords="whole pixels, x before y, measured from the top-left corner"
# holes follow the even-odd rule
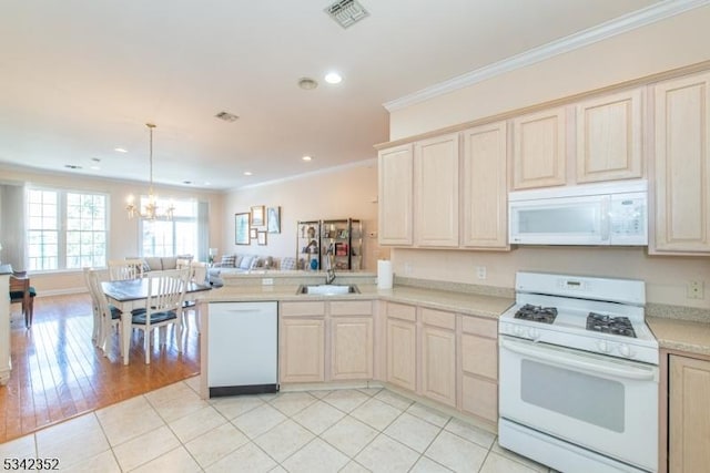
[[[566,184],[566,113],[544,110],[513,120],[513,188]]]

